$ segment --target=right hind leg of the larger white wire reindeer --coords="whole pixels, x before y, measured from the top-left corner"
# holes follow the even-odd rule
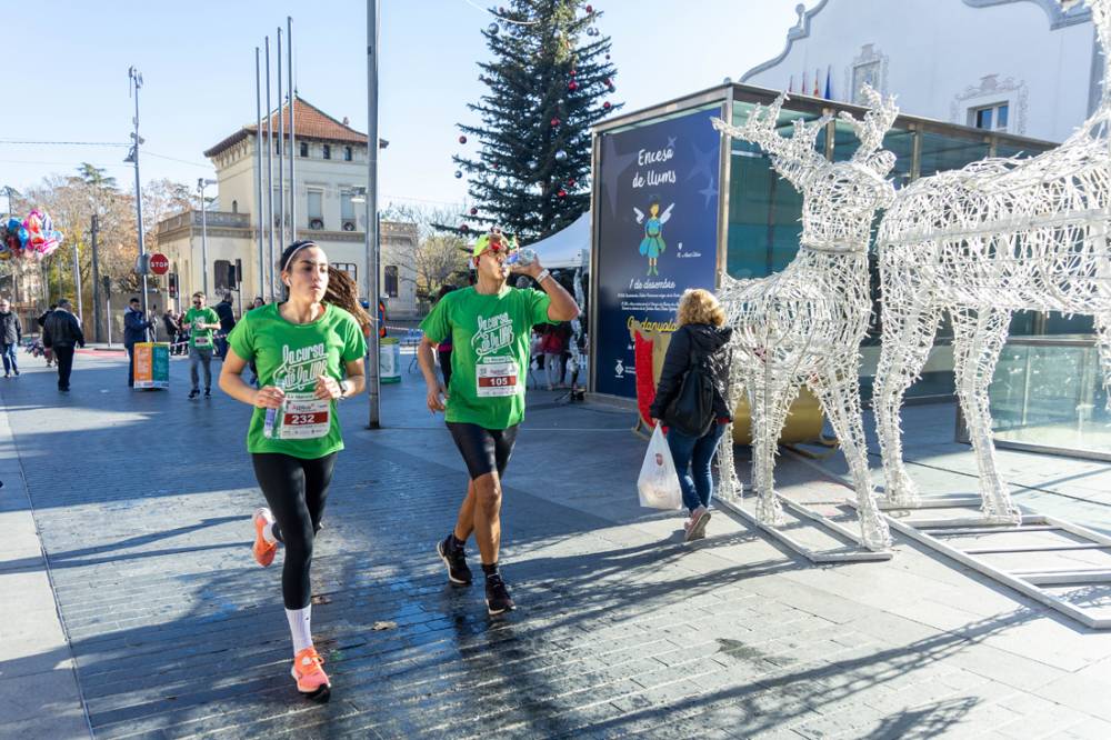
[[[995,464],[995,446],[991,441],[991,410],[988,387],[995,372],[995,362],[1007,341],[1011,314],[999,309],[981,308],[974,313],[961,310],[953,314],[953,359],[957,371],[957,396],[969,426],[969,437],[980,471],[980,496],[985,517],[1019,523],[1022,514],[1011,501],[1007,483]]]

